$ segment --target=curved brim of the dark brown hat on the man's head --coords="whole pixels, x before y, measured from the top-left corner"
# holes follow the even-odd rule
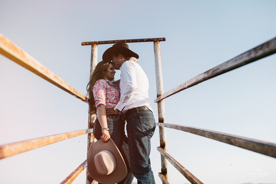
[[[127,56],[129,57],[135,57],[136,59],[139,58],[139,55],[136,54],[135,52],[131,51],[130,49],[126,48],[126,47],[121,47],[121,46],[113,46],[108,48],[104,54],[103,54],[103,60],[108,60],[111,61],[112,57],[118,53],[122,53],[122,54],[127,54]]]

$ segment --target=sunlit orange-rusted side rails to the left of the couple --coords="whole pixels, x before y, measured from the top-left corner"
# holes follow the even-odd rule
[[[2,34],[0,34],[0,54],[11,59],[12,61],[18,63],[22,67],[30,70],[31,72],[37,74],[41,78],[47,80],[51,84],[59,87],[60,89],[68,92],[69,94],[75,96],[76,98],[82,100],[83,102],[88,102],[88,98],[74,89],[72,86],[67,84],[64,80],[60,79],[57,75],[35,60],[33,57],[28,55],[18,46],[13,44]],[[0,145],[0,159],[16,155],[22,152],[40,148],[55,142],[66,140],[79,135],[92,133],[93,129],[85,129],[79,131],[72,131],[67,133],[60,133],[57,135],[50,135],[46,137],[40,137],[36,139],[15,142],[11,144]],[[78,166],[64,181],[62,184],[69,184],[74,181],[74,179],[87,167],[87,160],[85,160],[80,166]],[[95,181],[94,181],[95,183]]]

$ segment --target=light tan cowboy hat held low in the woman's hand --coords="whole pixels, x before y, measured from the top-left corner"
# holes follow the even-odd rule
[[[114,144],[98,140],[87,152],[87,168],[91,177],[99,183],[114,184],[127,176],[124,159]]]

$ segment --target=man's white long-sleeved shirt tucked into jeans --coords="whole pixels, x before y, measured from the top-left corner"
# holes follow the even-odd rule
[[[116,109],[126,113],[129,109],[147,106],[152,111],[148,95],[149,80],[142,67],[133,61],[125,61],[121,70],[121,97]]]

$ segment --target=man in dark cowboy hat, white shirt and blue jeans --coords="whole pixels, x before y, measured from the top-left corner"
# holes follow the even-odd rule
[[[150,166],[150,139],[156,125],[148,96],[149,81],[141,66],[128,61],[129,57],[139,58],[126,43],[114,44],[103,54],[103,60],[112,60],[114,68],[121,70],[120,101],[106,112],[124,114],[131,170],[138,184],[155,184]]]

